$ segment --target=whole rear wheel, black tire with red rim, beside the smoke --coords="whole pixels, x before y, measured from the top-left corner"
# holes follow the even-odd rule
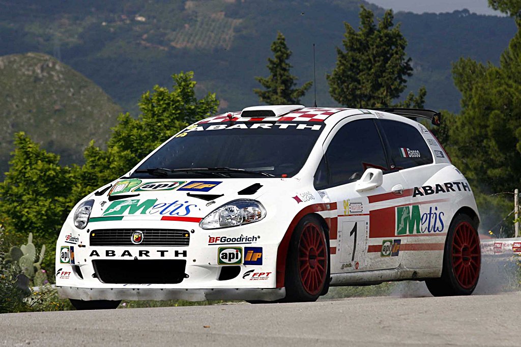
[[[472,218],[459,214],[451,222],[443,250],[440,278],[425,280],[434,296],[470,295],[478,284],[481,249]]]

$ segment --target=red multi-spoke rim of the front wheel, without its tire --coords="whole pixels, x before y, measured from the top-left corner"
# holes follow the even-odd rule
[[[322,290],[327,273],[324,233],[313,223],[304,227],[299,240],[299,272],[304,290],[316,295]]]

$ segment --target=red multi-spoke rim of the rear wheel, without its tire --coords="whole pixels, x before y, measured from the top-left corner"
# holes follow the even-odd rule
[[[469,289],[479,277],[481,250],[478,235],[469,222],[461,222],[452,239],[452,270],[460,286]]]

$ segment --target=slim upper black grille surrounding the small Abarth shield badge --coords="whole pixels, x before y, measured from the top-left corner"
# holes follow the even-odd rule
[[[132,242],[132,234],[143,233],[139,244]],[[188,246],[190,232],[180,229],[98,229],[90,233],[91,246]]]

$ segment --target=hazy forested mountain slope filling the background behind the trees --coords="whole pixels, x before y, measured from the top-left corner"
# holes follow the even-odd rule
[[[139,96],[170,75],[194,70],[198,91],[216,92],[221,108],[258,103],[255,76],[267,76],[269,46],[281,31],[293,51],[293,73],[313,79],[316,44],[319,105],[335,105],[326,73],[336,63],[343,22],[358,26],[359,5],[378,16],[383,9],[357,0],[114,0],[63,2],[4,0],[0,11],[0,54],[54,54],[100,85],[126,109],[137,111]],[[511,18],[397,13],[395,22],[413,58],[410,90],[427,87],[427,107],[458,111],[460,93],[451,63],[460,56],[497,63],[516,32]],[[312,92],[303,98],[313,104]]]

